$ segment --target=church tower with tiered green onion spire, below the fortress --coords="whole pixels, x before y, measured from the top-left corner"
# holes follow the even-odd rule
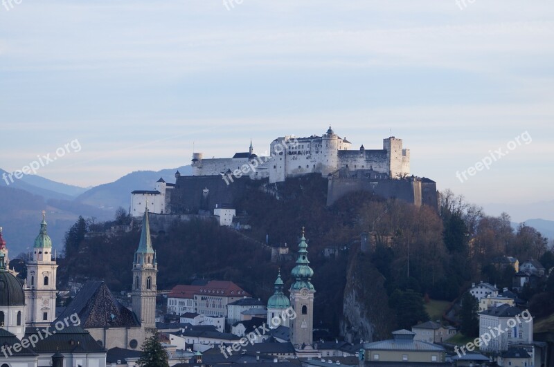
[[[316,292],[311,280],[314,270],[307,259],[307,244],[302,228],[302,237],[298,243],[298,258],[292,269],[295,279],[290,287],[290,303],[296,318],[290,320],[290,341],[294,348],[304,349],[312,346],[314,332],[314,293]]]

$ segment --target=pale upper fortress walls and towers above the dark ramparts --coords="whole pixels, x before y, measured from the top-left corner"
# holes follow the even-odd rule
[[[403,178],[410,173],[410,151],[402,149],[402,139],[383,139],[383,149],[365,149],[362,145],[351,150],[351,146],[346,137],[339,137],[329,126],[321,136],[277,138],[264,156],[253,153],[252,143],[248,152],[235,153],[233,158],[204,159],[202,153],[193,153],[193,176],[221,175],[228,182],[233,176],[249,176],[252,180],[269,178],[274,183],[307,173],[332,176],[340,169],[366,169],[387,178]]]

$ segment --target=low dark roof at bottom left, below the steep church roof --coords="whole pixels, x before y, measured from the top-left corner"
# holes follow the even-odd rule
[[[26,332],[25,337],[29,339],[30,335],[37,334],[36,329],[27,329],[29,332]],[[42,329],[41,329],[42,332]],[[57,330],[56,328],[48,328],[48,332],[51,332],[51,335],[44,337],[44,332],[42,336],[44,339],[39,340],[33,350],[39,354],[46,353],[71,353],[71,352],[83,352],[83,353],[101,353],[106,352],[100,344],[94,340],[93,337],[89,334],[87,330],[80,328],[79,326],[69,326],[62,328],[62,330]],[[40,338],[40,335],[39,339]]]

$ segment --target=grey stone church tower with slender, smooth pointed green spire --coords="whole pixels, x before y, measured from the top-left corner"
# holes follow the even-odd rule
[[[152,248],[152,238],[150,238],[150,221],[148,220],[147,207],[143,217],[141,241],[133,261],[132,292],[133,311],[145,330],[156,328],[157,273],[158,264],[156,252]]]

